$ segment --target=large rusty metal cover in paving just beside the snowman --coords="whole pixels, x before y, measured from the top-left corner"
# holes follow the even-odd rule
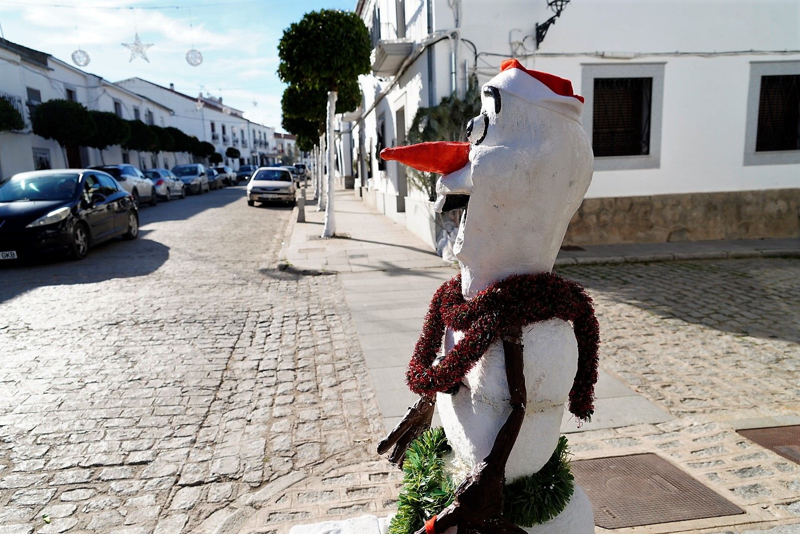
[[[602,528],[686,521],[744,513],[655,454],[572,462]]]

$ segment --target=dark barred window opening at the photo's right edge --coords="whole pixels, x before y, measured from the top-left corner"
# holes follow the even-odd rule
[[[755,151],[800,150],[800,74],[762,76]]]

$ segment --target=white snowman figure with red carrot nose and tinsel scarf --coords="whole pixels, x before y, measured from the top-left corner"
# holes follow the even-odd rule
[[[579,285],[550,272],[592,177],[583,98],[568,80],[506,60],[481,99],[469,142],[381,154],[441,173],[437,211],[466,210],[454,245],[461,274],[434,295],[406,375],[421,398],[378,452],[402,465],[438,403],[447,468],[463,482],[419,533],[590,534],[577,484],[557,515],[527,528],[503,516],[502,497],[504,484],[550,460],[567,401],[579,420],[594,410],[594,309]]]

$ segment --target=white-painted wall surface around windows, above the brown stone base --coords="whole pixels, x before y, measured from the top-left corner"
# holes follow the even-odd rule
[[[394,0],[375,0],[392,12]],[[454,27],[447,0],[434,2],[434,29]],[[800,50],[800,2],[789,0],[582,0],[570,2],[550,26],[542,48],[534,53],[534,26],[552,15],[546,2],[462,0],[460,29],[478,52],[477,74],[486,82],[497,74],[502,59],[516,50],[528,68],[568,78],[582,92],[585,65],[664,63],[661,156],[657,168],[597,170],[588,197],[618,197],[664,193],[740,191],[800,187],[800,164],[744,165],[746,111],[751,62],[800,60],[800,54],[648,55],[646,53],[720,52],[734,50]],[[417,26],[425,34],[425,2],[407,2],[408,13],[419,11]],[[371,9],[365,10],[371,22]],[[410,14],[406,15],[408,19]],[[420,31],[422,30],[422,34]],[[525,36],[531,36],[524,39]],[[390,38],[390,36],[384,36]],[[524,46],[523,46],[524,45]],[[449,94],[450,42],[434,48],[436,99]],[[630,59],[601,58],[598,52],[625,53]],[[497,54],[497,55],[493,55]],[[464,61],[470,71],[470,46],[458,49],[459,86],[464,90]],[[618,56],[619,54],[615,54]],[[366,119],[366,145],[374,140],[374,121],[386,113],[394,123],[398,99],[405,98],[406,122],[426,105],[426,54],[417,60],[384,102]],[[366,105],[387,82],[362,77]],[[402,97],[401,95],[405,96]],[[588,103],[588,102],[587,102]],[[390,193],[396,186],[394,162],[386,172],[374,169],[374,187]],[[377,165],[375,165],[377,167]],[[413,194],[413,193],[412,193]]]

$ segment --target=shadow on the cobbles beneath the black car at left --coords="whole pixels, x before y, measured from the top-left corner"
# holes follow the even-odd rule
[[[4,264],[0,267],[0,302],[45,286],[91,284],[153,273],[170,257],[170,248],[142,238],[146,233],[142,230],[134,241],[106,241],[93,247],[82,261],[50,257]]]

